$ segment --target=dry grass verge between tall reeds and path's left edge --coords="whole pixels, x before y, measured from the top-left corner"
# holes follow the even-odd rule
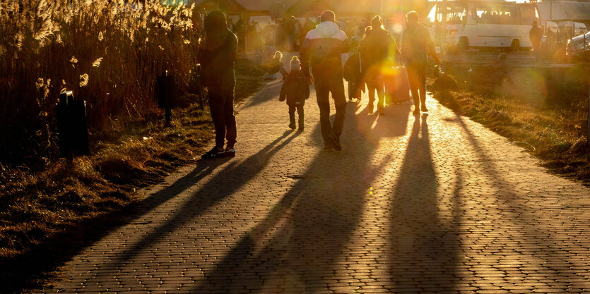
[[[261,73],[245,60],[236,68],[239,103],[260,89]],[[51,281],[76,252],[133,219],[139,188],[200,158],[213,137],[208,109],[188,104],[173,110],[173,128],[163,128],[162,112],[114,123],[119,127],[102,135],[109,140],[95,142],[87,157],[0,164],[0,293]]]

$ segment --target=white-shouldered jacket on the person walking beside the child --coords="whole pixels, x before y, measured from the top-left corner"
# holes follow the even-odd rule
[[[309,77],[312,68],[314,78],[342,77],[341,54],[348,52],[348,37],[331,21],[320,23],[305,36],[301,46],[301,69]]]

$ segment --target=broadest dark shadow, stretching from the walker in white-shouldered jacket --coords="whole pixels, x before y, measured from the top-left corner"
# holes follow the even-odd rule
[[[349,113],[354,108],[349,104]],[[367,124],[358,120],[374,121],[374,117],[347,118],[342,140],[355,147],[319,152],[266,218],[244,233],[191,293],[346,292],[334,287],[343,271],[355,274],[347,264],[355,265],[350,259],[362,244],[350,240],[365,211],[372,180],[391,158],[390,154],[372,166],[375,146],[363,135],[362,125]],[[405,130],[406,121],[396,120],[396,128]],[[319,136],[316,128],[314,137]]]

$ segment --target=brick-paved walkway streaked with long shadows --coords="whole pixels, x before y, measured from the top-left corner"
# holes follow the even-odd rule
[[[147,190],[47,292],[590,291],[588,188],[430,98],[419,118],[348,104],[343,151],[323,152],[315,94],[293,132],[280,85],[237,109],[235,159]]]

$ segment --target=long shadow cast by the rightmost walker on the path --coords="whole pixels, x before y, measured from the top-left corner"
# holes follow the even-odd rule
[[[421,127],[421,130],[420,130]],[[394,292],[453,290],[459,263],[459,197],[455,218],[439,215],[427,115],[416,117],[391,207],[389,266]],[[460,178],[459,178],[460,183]]]

